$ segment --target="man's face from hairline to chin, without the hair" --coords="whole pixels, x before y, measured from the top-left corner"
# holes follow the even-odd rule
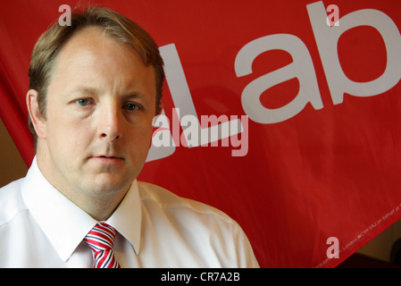
[[[127,189],[146,161],[155,116],[155,71],[98,28],[60,51],[47,92],[39,166],[59,190]]]

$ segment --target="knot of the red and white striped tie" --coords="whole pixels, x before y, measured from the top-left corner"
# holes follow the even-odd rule
[[[85,237],[88,246],[94,251],[112,249],[115,239],[115,230],[107,223],[97,223]]]

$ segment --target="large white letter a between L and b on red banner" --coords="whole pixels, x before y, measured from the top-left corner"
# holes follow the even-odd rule
[[[311,56],[304,42],[296,36],[277,34],[257,38],[246,44],[235,59],[234,66],[237,76],[243,77],[251,74],[252,63],[256,56],[274,49],[287,51],[292,56],[293,63],[263,75],[244,88],[241,101],[245,113],[255,122],[268,124],[288,120],[300,113],[308,102],[313,105],[314,109],[321,109],[323,107],[322,98]],[[299,91],[297,97],[288,105],[275,109],[262,105],[259,98],[265,90],[293,78],[299,80]]]

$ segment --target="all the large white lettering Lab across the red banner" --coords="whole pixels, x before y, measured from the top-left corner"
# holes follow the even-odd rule
[[[334,105],[343,102],[344,93],[355,97],[377,96],[393,88],[401,79],[401,35],[397,29],[397,25],[387,14],[378,10],[363,9],[348,13],[339,18],[338,6],[329,5],[326,10],[322,1],[307,4],[306,9],[309,14],[313,34],[322,60],[323,71],[326,75]],[[332,11],[332,13],[328,16],[326,11]],[[341,20],[341,25],[338,25],[339,20]],[[387,65],[386,70],[379,78],[366,82],[355,82],[347,78],[347,75],[344,73],[339,63],[337,48],[338,38],[348,29],[366,25],[377,29],[383,38],[387,51]],[[256,38],[247,43],[238,51],[238,55],[235,59],[234,69],[237,76],[243,77],[251,74],[253,72],[252,64],[256,57],[273,49],[280,49],[288,52],[292,56],[293,62],[279,70],[266,73],[246,85],[241,94],[241,104],[246,115],[255,122],[272,124],[283,122],[294,117],[299,114],[308,103],[316,110],[322,109],[324,106],[322,104],[312,57],[304,42],[300,38],[297,38],[297,36],[275,34]],[[247,140],[247,117],[246,122],[239,120],[238,117],[231,117],[229,122],[228,118],[219,117],[219,119],[217,119],[213,118],[211,115],[207,119],[212,121],[212,126],[208,127],[205,126],[205,124],[201,126],[196,115],[196,108],[192,101],[188,82],[180,63],[180,57],[176,46],[174,44],[161,46],[160,52],[165,63],[164,70],[166,73],[166,81],[171,91],[173,103],[177,107],[177,111],[180,109],[180,113],[184,115],[180,118],[179,114],[176,114],[176,116],[172,118],[172,126],[180,124],[183,130],[180,135],[180,130],[173,128],[172,140],[176,144],[181,143],[184,147],[205,146],[208,143],[217,142],[218,140],[221,140],[221,146],[225,146],[227,145],[228,138],[244,131],[246,131],[246,134],[244,133],[243,135],[246,135]],[[281,82],[294,78],[297,78],[299,81],[297,97],[287,105],[283,105],[279,108],[266,108],[262,105],[260,97],[264,91]],[[162,115],[165,116],[164,114]],[[173,142],[171,140],[170,128],[166,130],[167,126],[170,126],[170,124],[164,124],[169,123],[165,122],[165,119],[167,118],[160,120],[163,126],[165,125],[166,127],[159,128],[155,131],[163,131],[163,134],[160,134],[160,136],[163,135],[163,139],[159,142],[161,147],[155,147],[152,144],[146,161],[170,156],[175,151],[175,144],[169,144],[168,146],[162,144],[163,142],[167,142],[167,140]],[[215,124],[213,125],[213,123]],[[243,123],[246,123],[246,126],[244,126]],[[240,126],[240,128],[234,128],[234,126]],[[231,138],[231,144],[233,144],[233,142],[235,142],[235,139],[233,140]],[[244,143],[244,147],[244,149],[241,147],[239,150],[233,150],[232,156],[244,156],[243,154],[247,153],[247,141]],[[237,153],[235,153],[235,151],[237,151]]]

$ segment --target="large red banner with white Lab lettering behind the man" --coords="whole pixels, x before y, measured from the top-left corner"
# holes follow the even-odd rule
[[[27,164],[31,50],[77,2],[1,4],[0,115]],[[261,266],[336,266],[401,217],[399,1],[97,3],[165,61],[139,180],[230,214]]]

